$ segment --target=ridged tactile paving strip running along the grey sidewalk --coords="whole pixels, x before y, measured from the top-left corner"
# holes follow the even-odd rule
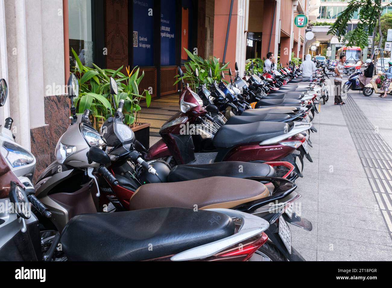
[[[392,149],[348,94],[343,116],[392,238]]]

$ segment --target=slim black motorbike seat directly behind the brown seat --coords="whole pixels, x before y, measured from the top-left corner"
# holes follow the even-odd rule
[[[241,172],[240,172],[240,167]],[[268,164],[223,161],[200,165],[177,165],[169,173],[168,182],[187,181],[214,176],[246,178],[252,176],[274,177],[275,169]]]

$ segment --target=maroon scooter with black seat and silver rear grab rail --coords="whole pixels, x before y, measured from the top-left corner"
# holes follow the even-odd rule
[[[180,67],[178,73],[182,78]],[[301,133],[309,130],[312,123],[255,122],[216,129],[216,107],[203,107],[200,97],[184,83],[180,110],[162,126],[162,139],[148,150],[146,160],[172,157],[176,164],[194,163],[194,143],[203,141],[205,148],[200,152],[218,152],[214,162],[289,161],[302,177],[303,156],[311,161],[309,144]]]

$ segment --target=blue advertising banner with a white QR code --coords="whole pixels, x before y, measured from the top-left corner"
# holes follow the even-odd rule
[[[154,0],[133,0],[133,66],[154,65]]]

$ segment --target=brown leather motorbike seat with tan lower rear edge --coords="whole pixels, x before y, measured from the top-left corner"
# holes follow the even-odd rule
[[[230,177],[210,177],[174,183],[142,185],[132,195],[129,210],[184,207],[233,208],[269,195],[260,182]]]

